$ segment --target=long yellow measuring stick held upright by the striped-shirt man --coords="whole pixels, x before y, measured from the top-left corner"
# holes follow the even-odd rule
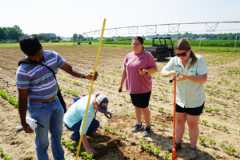
[[[101,55],[102,48],[103,48],[103,35],[104,35],[104,31],[105,31],[105,25],[106,25],[106,19],[104,18],[103,25],[102,25],[102,30],[101,30],[101,36],[100,36],[100,40],[99,40],[99,46],[98,46],[98,50],[97,50],[97,53],[96,53],[95,64],[93,66],[93,73],[94,74],[97,71],[97,67],[100,63],[100,55]],[[86,110],[84,112],[84,116],[83,116],[83,120],[82,120],[82,125],[81,125],[81,129],[80,129],[80,140],[79,140],[79,143],[78,143],[78,146],[77,146],[77,153],[76,153],[75,160],[79,160],[79,152],[81,150],[81,144],[82,144],[82,140],[83,140],[83,131],[86,127],[88,108],[89,108],[89,104],[90,104],[90,100],[91,100],[91,95],[92,95],[92,92],[93,92],[93,86],[94,86],[94,80],[91,80],[89,82],[87,106],[86,106]]]

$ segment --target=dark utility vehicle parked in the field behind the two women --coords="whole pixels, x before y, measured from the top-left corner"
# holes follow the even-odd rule
[[[145,50],[151,52],[157,61],[165,61],[175,56],[171,37],[153,37],[152,46]]]

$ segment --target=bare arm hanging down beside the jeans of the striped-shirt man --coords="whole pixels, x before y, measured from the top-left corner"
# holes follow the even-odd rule
[[[18,111],[20,121],[24,131],[26,133],[32,133],[33,130],[26,123],[27,101],[28,101],[28,89],[18,89]]]

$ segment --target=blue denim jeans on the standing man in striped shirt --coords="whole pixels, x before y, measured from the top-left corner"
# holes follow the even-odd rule
[[[48,160],[48,131],[51,133],[51,147],[54,160],[64,160],[64,151],[61,145],[63,129],[63,108],[58,99],[48,103],[29,102],[28,110],[33,119],[43,127],[35,129],[35,145],[38,160]]]

